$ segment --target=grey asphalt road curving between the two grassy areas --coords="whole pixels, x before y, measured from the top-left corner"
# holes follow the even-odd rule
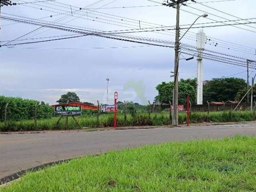
[[[256,124],[95,132],[0,134],[0,178],[49,162],[144,144],[236,134],[256,135]]]

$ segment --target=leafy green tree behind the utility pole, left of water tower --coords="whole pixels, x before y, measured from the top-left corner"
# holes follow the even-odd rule
[[[158,84],[156,86],[156,90],[158,91],[158,96],[155,97],[155,100],[158,102],[169,103],[172,102],[172,92],[173,92],[173,82],[162,82],[162,84]],[[186,103],[187,96],[190,96],[190,100],[194,101],[196,98],[196,90],[195,88],[188,84],[187,82],[180,81],[179,84],[179,100],[178,102],[181,104]]]

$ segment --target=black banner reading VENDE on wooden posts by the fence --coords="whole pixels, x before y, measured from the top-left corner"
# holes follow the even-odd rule
[[[81,116],[81,106],[55,106],[55,115]]]

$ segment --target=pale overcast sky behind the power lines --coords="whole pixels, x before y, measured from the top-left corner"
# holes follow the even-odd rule
[[[87,7],[100,8],[97,10],[91,9],[88,11],[82,10],[81,12],[76,12],[75,7],[73,7],[73,16],[71,15],[71,10],[69,10],[67,6],[55,2],[24,4],[25,2],[36,1],[40,0],[20,0],[17,1],[20,5],[4,6],[1,8],[1,15],[11,16],[7,14],[13,14],[37,19],[46,17],[42,20],[54,21],[65,16],[63,14],[57,16],[57,14],[65,13],[69,16],[64,20],[58,21],[59,23],[67,23],[73,26],[103,31],[139,28],[138,20],[141,21],[140,24],[142,28],[150,27],[148,25],[152,26],[152,24],[149,23],[161,24],[164,26],[174,26],[176,24],[176,9],[174,8],[168,8],[166,6],[113,8],[160,5],[148,0],[102,0],[98,4]],[[85,8],[97,1],[56,0],[56,2],[64,4],[71,3],[72,6]],[[200,2],[206,1],[200,0]],[[191,1],[189,1],[189,3],[191,3]],[[238,19],[200,4],[188,5],[229,20]],[[205,3],[205,5],[243,19],[255,17],[256,2],[254,0],[231,0],[226,2]],[[40,8],[42,8],[42,10],[40,10]],[[190,7],[182,6],[181,9],[200,15],[203,14],[203,12]],[[181,25],[191,24],[197,18],[196,15],[182,10],[180,11]],[[107,13],[109,15],[102,13]],[[108,16],[108,18],[97,16],[95,14]],[[92,19],[91,17],[114,20],[114,16],[111,16],[110,14],[127,18],[124,20],[128,20],[129,22],[126,23],[130,25],[124,26],[124,24],[122,24],[124,21],[122,20],[115,20],[120,22],[119,26],[97,22],[97,19],[94,19],[94,21],[89,20]],[[52,17],[50,17],[51,15]],[[128,18],[133,20],[129,20]],[[218,21],[225,20],[210,14],[208,18]],[[212,22],[208,18],[200,18],[197,23]],[[101,21],[110,23],[106,20]],[[256,19],[250,20],[250,22],[255,21]],[[38,28],[38,26],[30,24],[14,23],[5,20],[1,21],[1,25],[0,39],[2,44],[4,44],[5,41],[13,40]],[[250,26],[252,27],[244,25],[240,26],[241,28],[248,30],[232,26],[204,28],[204,32],[206,33],[206,36],[211,38],[254,48],[256,24],[250,24]],[[198,28],[191,29],[190,32],[196,33],[198,30]],[[56,29],[49,30],[47,28],[41,28],[20,39],[60,36],[66,34],[73,33],[63,32]],[[158,38],[168,41],[175,40],[173,31],[163,32],[161,34],[156,32],[140,32],[130,35]],[[182,43],[195,46],[196,41],[192,39],[194,37],[195,34],[188,33],[188,35],[182,39]],[[17,42],[18,41],[14,41],[12,44]],[[239,50],[234,51],[232,50],[234,46],[232,47],[232,44],[230,43],[222,42],[222,44],[219,43],[218,46],[214,46],[214,44],[216,44],[216,42],[212,39],[211,45],[210,42],[207,42],[206,48],[255,60],[254,50],[251,50],[251,54],[248,54],[248,49],[241,46],[236,46],[235,48]],[[96,100],[100,100],[103,103],[106,100],[106,78],[108,76],[108,78],[110,78],[109,100],[111,102],[113,100],[114,91],[117,90],[119,92],[119,100],[133,100],[134,102],[143,103],[145,100],[154,100],[154,97],[157,95],[157,91],[155,90],[157,84],[164,81],[172,81],[172,78],[170,78],[170,71],[173,70],[173,67],[173,48],[147,46],[95,36],[10,47],[3,46],[0,51],[0,94],[4,96],[19,96],[22,98],[43,100],[53,104],[58,100],[61,94],[64,94],[67,91],[74,91],[78,94],[81,101],[96,103]],[[191,61],[181,60],[179,70],[180,78],[196,77],[196,59]],[[204,60],[204,80],[222,76],[232,76],[234,74],[236,74],[234,75],[235,77],[246,78],[245,71],[246,68]],[[253,73],[254,71],[250,70],[250,76],[252,76]]]

